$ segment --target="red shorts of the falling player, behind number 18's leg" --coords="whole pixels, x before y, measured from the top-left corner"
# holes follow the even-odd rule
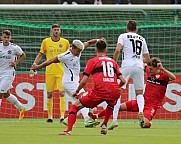
[[[138,104],[137,100],[130,100],[126,102],[127,111],[130,112],[138,112]],[[149,121],[152,120],[153,116],[156,114],[156,107],[153,106],[144,106],[144,117],[147,118]]]

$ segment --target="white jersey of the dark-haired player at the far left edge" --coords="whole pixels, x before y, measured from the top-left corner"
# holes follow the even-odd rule
[[[8,46],[4,46],[0,42],[0,76],[14,75],[15,68],[9,64],[22,54],[23,51],[18,45],[10,42]]]

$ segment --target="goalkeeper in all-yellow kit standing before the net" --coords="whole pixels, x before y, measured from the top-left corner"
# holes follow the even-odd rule
[[[52,25],[52,36],[45,38],[42,41],[41,49],[39,54],[34,60],[34,64],[38,64],[43,55],[46,55],[46,59],[49,60],[58,54],[64,53],[70,48],[69,41],[60,37],[60,26],[58,24]],[[32,72],[30,72],[32,73]],[[53,91],[58,89],[60,96],[60,122],[64,120],[65,114],[65,94],[62,88],[62,76],[64,70],[62,63],[52,64],[46,67],[46,90],[47,90],[47,109],[48,109],[48,123],[53,122],[52,111],[53,111]]]

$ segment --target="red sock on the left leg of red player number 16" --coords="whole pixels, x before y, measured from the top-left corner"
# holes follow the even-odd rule
[[[76,121],[77,112],[79,108],[76,105],[72,105],[70,108],[69,116],[68,116],[68,127],[67,131],[71,131],[72,127]]]

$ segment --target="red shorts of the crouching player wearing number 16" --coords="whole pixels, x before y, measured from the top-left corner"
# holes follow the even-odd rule
[[[114,107],[119,97],[113,98],[104,98],[104,96],[95,95],[93,91],[88,91],[79,98],[80,102],[84,107],[94,108],[97,107],[100,103],[106,102],[108,105]]]

